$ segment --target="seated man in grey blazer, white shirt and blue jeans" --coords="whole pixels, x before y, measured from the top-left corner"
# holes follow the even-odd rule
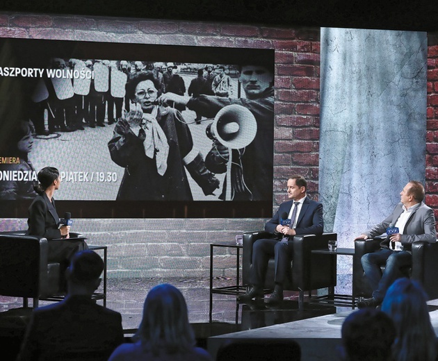
[[[432,208],[423,203],[423,199],[423,185],[417,181],[409,181],[400,192],[400,203],[396,205],[394,212],[382,223],[355,238],[367,240],[382,235],[390,225],[399,229],[399,233],[387,236],[380,243],[380,251],[362,256],[362,267],[373,289],[373,297],[359,301],[358,308],[377,307],[382,303],[389,286],[403,276],[400,269],[412,265],[413,242],[437,242],[435,215]],[[383,274],[381,266],[385,266]]]

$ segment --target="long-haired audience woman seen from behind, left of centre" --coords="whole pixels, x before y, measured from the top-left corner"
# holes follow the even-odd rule
[[[157,285],[146,296],[143,319],[132,344],[122,344],[108,361],[211,361],[204,349],[195,346],[188,323],[187,305],[179,290]]]

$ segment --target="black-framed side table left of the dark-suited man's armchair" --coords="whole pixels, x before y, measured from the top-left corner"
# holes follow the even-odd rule
[[[236,285],[230,285],[226,287],[213,287],[213,253],[215,247],[225,247],[229,249],[236,249]],[[211,312],[213,311],[213,294],[232,294],[234,296],[237,296],[239,294],[245,294],[246,287],[240,285],[240,277],[239,277],[239,271],[240,271],[240,255],[241,255],[241,249],[243,248],[243,245],[236,244],[236,242],[220,242],[220,243],[211,243],[210,244],[210,322],[211,322]],[[236,322],[238,317],[238,308],[236,308]]]

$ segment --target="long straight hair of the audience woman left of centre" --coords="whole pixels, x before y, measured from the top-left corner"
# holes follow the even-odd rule
[[[195,346],[195,335],[188,323],[187,304],[179,289],[162,284],[146,296],[143,319],[134,338],[158,355],[185,353]]]

